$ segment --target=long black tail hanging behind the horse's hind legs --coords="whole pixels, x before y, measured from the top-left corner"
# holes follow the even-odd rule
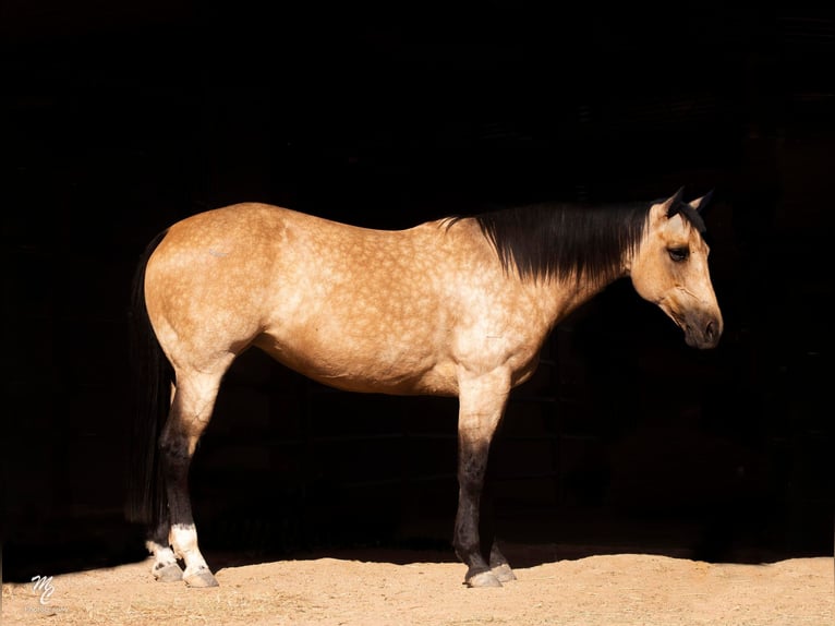
[[[131,359],[133,364],[133,424],[129,431],[129,521],[154,529],[167,515],[168,502],[159,465],[157,442],[171,406],[173,369],[150,326],[145,308],[145,267],[166,236],[160,232],[140,258],[131,300]]]

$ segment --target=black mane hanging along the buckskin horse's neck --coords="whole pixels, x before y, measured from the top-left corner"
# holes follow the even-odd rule
[[[506,272],[606,282],[640,244],[650,204],[536,204],[474,216]]]

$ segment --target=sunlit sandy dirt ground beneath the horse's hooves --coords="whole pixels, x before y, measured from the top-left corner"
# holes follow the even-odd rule
[[[832,557],[742,565],[656,554],[574,557],[557,545],[505,552],[518,580],[500,589],[468,589],[463,565],[434,551],[328,551],[233,566],[216,558],[220,587],[207,590],[155,582],[149,562],[133,563],[53,576],[44,603],[45,589],[5,583],[2,624],[835,624]]]

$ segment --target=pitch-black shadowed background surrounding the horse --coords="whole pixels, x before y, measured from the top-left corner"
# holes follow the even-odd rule
[[[177,219],[263,201],[399,228],[681,185],[716,190],[721,346],[687,348],[628,282],[566,321],[496,442],[499,531],[832,554],[835,22],[790,4],[550,4],[0,5],[7,578],[144,555],[122,513],[128,300]],[[328,392],[245,354],[192,472],[209,563],[452,557],[456,408]]]

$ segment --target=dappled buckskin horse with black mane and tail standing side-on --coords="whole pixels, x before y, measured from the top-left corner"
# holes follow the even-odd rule
[[[160,232],[140,258],[131,313],[148,399],[136,412],[129,517],[148,529],[153,576],[218,585],[198,546],[189,468],[225,373],[258,348],[338,389],[457,397],[452,547],[468,587],[516,579],[496,541],[482,549],[482,487],[509,394],[534,373],[555,325],[630,277],[687,345],[719,341],[702,218],[711,194],[685,202],[682,189],[652,202],[530,204],[402,230],[241,203]]]

